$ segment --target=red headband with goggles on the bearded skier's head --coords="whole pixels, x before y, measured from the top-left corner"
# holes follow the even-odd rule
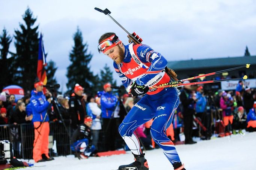
[[[105,53],[107,50],[120,43],[122,43],[122,41],[119,40],[116,34],[113,34],[99,43],[98,51]]]

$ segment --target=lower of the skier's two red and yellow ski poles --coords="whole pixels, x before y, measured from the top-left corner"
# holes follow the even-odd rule
[[[171,85],[169,85],[169,83],[166,83],[166,84],[161,84],[161,85],[158,85],[158,86],[153,86],[153,88],[181,87],[181,86],[186,86],[186,85],[207,84],[207,83],[215,83],[215,82],[223,82],[223,81],[233,81],[233,80],[241,80],[241,79],[245,80],[245,79],[247,79],[247,76],[245,75],[242,78],[211,80],[211,81],[185,83],[185,84],[171,84]]]

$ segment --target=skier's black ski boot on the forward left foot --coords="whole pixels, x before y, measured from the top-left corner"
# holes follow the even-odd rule
[[[133,154],[134,155],[134,154]],[[134,162],[129,165],[121,165],[118,170],[149,170],[148,161],[142,155],[134,155]]]

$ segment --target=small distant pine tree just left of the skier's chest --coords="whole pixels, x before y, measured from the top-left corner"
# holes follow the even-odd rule
[[[116,80],[113,79],[113,72],[111,72],[110,67],[105,64],[103,70],[100,70],[100,90],[103,90],[103,85],[105,83],[110,83],[113,86],[116,86]]]

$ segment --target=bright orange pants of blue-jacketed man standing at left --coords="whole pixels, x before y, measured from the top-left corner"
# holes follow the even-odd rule
[[[40,122],[34,122],[35,128],[39,126],[40,126]],[[48,155],[49,132],[50,132],[49,122],[44,122],[38,129],[35,129],[35,140],[33,145],[34,146],[33,160],[35,162],[42,159],[42,154],[45,154],[49,158],[49,155]]]

